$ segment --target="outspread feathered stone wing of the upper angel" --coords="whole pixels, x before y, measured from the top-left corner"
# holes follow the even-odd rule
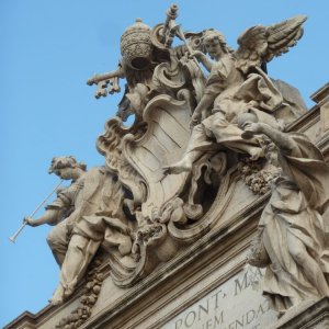
[[[303,36],[302,25],[306,20],[305,15],[298,15],[277,24],[257,25],[245,31],[238,38],[237,67],[247,73],[251,67],[287,53]]]

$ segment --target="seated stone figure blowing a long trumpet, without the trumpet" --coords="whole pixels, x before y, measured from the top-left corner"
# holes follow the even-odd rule
[[[100,246],[109,252],[116,247],[122,257],[131,253],[132,223],[123,211],[123,185],[104,167],[86,171],[73,157],[57,157],[49,172],[72,180],[71,185],[58,193],[39,218],[24,220],[31,226],[56,225],[47,242],[60,266],[59,285],[50,300],[58,305],[75,291]]]

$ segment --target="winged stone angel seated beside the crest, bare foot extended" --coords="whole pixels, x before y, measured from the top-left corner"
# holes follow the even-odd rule
[[[164,167],[164,172],[190,171],[205,151],[215,151],[218,147],[249,154],[252,160],[262,156],[256,138],[241,138],[238,115],[251,112],[261,122],[281,127],[274,112],[282,106],[283,97],[262,68],[296,44],[303,35],[305,21],[306,16],[300,15],[268,27],[250,27],[238,38],[236,52],[226,45],[220,32],[204,32],[204,49],[212,59],[200,50],[191,55],[209,71],[209,76],[192,115],[192,135],[183,158]]]

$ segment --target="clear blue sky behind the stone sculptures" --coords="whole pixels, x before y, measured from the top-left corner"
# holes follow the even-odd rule
[[[306,14],[297,47],[269,64],[269,73],[309,95],[328,82],[328,1],[177,1],[185,31],[215,27],[230,46],[246,29]],[[200,4],[198,4],[200,3]],[[163,22],[164,0],[0,1],[0,326],[24,310],[47,305],[58,268],[46,245],[49,226],[26,227],[12,245],[8,237],[58,183],[47,174],[54,156],[75,155],[89,167],[103,164],[95,149],[105,121],[121,95],[95,100],[86,81],[115,69],[120,37],[136,18]],[[122,82],[123,86],[123,82]],[[42,212],[39,212],[42,214]]]

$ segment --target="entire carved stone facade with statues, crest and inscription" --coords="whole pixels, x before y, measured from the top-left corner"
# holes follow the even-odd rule
[[[265,69],[306,18],[252,26],[236,50],[177,19],[172,4],[164,23],[136,20],[117,68],[88,80],[97,98],[126,80],[97,141],[105,163],[54,158],[71,185],[24,223],[55,225],[60,284],[52,306],[8,328],[262,329],[277,315],[288,328],[329,295],[329,167],[315,146],[329,158],[329,87],[306,112]],[[308,307],[314,319],[326,303]]]

